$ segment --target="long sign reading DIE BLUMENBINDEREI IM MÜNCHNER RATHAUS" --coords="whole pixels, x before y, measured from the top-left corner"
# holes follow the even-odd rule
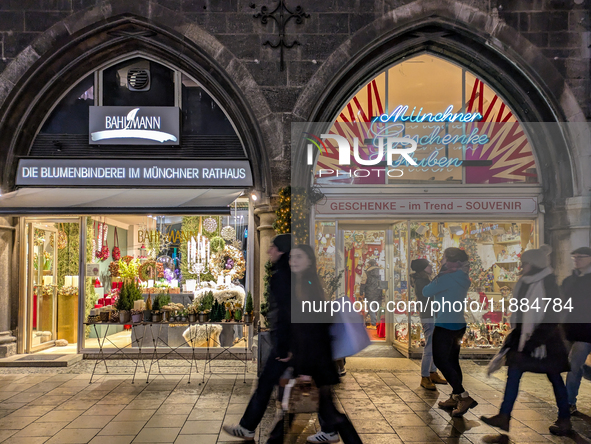
[[[250,187],[248,160],[21,159],[17,186]]]

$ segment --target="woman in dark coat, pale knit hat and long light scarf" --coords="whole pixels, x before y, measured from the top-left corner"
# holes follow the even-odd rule
[[[513,296],[528,306],[536,304],[540,310],[517,311],[511,316],[513,330],[503,349],[507,349],[507,384],[498,415],[482,416],[486,424],[509,430],[511,412],[519,393],[519,381],[525,372],[545,373],[554,389],[558,405],[558,420],[550,426],[550,433],[567,435],[572,431],[568,397],[560,373],[569,369],[568,355],[559,328],[559,313],[549,307],[543,298],[560,298],[556,276],[550,267],[552,249],[543,245],[537,250],[527,250],[521,255],[522,276],[513,289]]]

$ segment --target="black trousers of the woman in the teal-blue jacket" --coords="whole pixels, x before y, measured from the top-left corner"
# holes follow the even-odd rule
[[[433,331],[433,362],[451,385],[454,395],[465,391],[460,367],[460,344],[465,332],[466,327],[448,330],[438,326]]]

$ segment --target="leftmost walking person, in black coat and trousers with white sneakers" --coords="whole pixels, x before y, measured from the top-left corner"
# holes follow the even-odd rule
[[[225,425],[229,435],[246,441],[254,440],[255,430],[269,404],[274,387],[288,367],[291,356],[291,270],[289,253],[291,235],[280,234],[271,242],[268,254],[273,263],[269,281],[269,320],[271,321],[272,349],[259,378],[259,384],[250,398],[246,411],[237,425]]]

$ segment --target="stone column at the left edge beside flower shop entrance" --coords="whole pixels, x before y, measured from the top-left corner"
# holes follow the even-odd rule
[[[17,260],[18,255],[13,254],[16,242],[16,227],[12,217],[0,217],[0,358],[12,356],[16,353],[16,338],[11,331],[11,307],[16,298],[18,305],[18,274],[13,275],[18,267],[13,267],[13,260]]]

